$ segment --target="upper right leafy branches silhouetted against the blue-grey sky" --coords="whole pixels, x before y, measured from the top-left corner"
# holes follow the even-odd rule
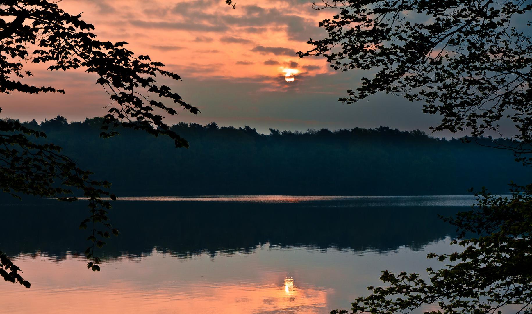
[[[434,130],[470,129],[473,137],[498,131],[508,118],[519,134],[505,148],[532,163],[521,157],[532,153],[528,1],[331,0],[314,8],[339,14],[320,22],[328,36],[310,39],[314,48],[300,57],[322,55],[335,70],[372,73],[340,101],[403,95],[443,115]]]

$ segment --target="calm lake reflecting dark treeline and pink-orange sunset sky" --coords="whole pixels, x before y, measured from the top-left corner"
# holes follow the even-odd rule
[[[381,270],[424,272],[451,253],[437,214],[475,196],[159,196],[113,202],[121,232],[86,268],[86,204],[3,199],[0,249],[31,282],[0,283],[3,313],[328,313]],[[9,219],[6,219],[8,218]]]

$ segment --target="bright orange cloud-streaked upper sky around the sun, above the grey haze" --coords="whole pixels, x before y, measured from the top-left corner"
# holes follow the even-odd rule
[[[232,9],[214,0],[64,0],[60,6],[83,11],[100,40],[126,40],[132,51],[188,78],[258,79],[276,89],[286,72],[329,71],[325,58],[296,54],[312,47],[309,37],[323,36],[318,22],[330,17],[309,2],[246,0]]]

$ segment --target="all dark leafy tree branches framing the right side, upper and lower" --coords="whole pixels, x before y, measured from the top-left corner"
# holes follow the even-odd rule
[[[351,104],[379,92],[425,101],[423,112],[443,115],[434,130],[469,129],[474,138],[510,119],[519,134],[509,145],[493,146],[532,164],[525,157],[532,153],[532,44],[522,30],[530,2],[331,0],[314,8],[339,13],[320,22],[328,36],[310,39],[314,48],[300,57],[322,55],[335,70],[372,71],[340,101]],[[516,314],[530,313],[532,185],[512,185],[512,193],[496,197],[483,188],[471,211],[444,219],[459,238],[477,237],[453,241],[464,247],[461,253],[428,254],[452,264],[427,269],[428,282],[418,274],[383,271],[385,287],[368,287],[371,295],[356,299],[353,313],[409,313],[426,304],[438,311],[425,314],[500,314],[512,311],[511,304],[518,305]]]

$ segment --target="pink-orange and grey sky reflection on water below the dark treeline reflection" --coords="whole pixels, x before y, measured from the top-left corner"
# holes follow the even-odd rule
[[[112,258],[95,273],[78,254],[21,254],[15,260],[32,286],[0,285],[0,303],[5,313],[328,313],[367,294],[380,270],[434,264],[425,254],[450,252],[449,241],[387,253],[266,244],[251,253],[183,258],[154,249]]]

